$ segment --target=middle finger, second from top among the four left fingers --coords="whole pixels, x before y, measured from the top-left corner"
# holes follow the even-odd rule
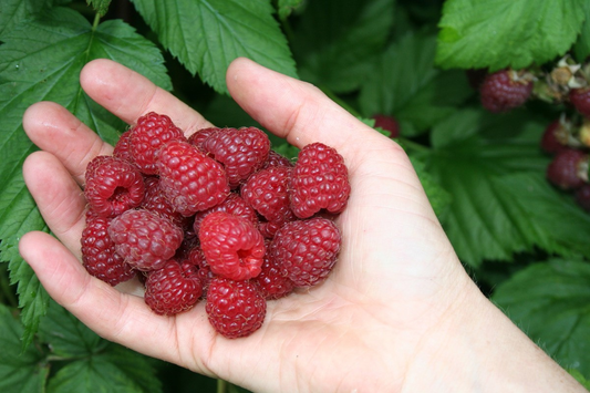
[[[79,184],[84,183],[84,172],[92,158],[113,153],[113,147],[96,133],[66,108],[52,102],[31,105],[24,112],[22,125],[29,138],[54,155]]]

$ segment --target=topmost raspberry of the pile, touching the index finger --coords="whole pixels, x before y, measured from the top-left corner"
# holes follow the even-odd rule
[[[146,175],[157,175],[156,165],[159,148],[168,141],[185,141],[180,128],[170,117],[154,112],[137,120],[131,128],[130,147],[135,165]]]

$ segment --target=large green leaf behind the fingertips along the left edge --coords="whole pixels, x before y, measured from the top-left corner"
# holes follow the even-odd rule
[[[107,142],[125,126],[85,95],[79,74],[85,63],[106,58],[143,73],[164,89],[172,89],[157,48],[122,21],[106,21],[96,30],[81,14],[64,8],[44,12],[3,37],[0,46],[0,259],[9,261],[18,282],[23,345],[28,345],[48,306],[46,292],[18,252],[20,237],[48,228],[22,179],[22,163],[35,151],[22,128],[22,115],[39,101],[64,105]]]

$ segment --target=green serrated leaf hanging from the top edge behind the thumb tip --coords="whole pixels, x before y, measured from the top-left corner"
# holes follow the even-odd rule
[[[133,0],[162,44],[217,92],[239,56],[297,76],[286,38],[269,0]]]

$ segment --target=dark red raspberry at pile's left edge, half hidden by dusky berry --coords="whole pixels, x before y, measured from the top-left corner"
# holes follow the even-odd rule
[[[93,217],[86,219],[82,230],[82,262],[91,276],[111,286],[127,281],[135,270],[115,251],[115,244],[108,236],[110,219]]]

